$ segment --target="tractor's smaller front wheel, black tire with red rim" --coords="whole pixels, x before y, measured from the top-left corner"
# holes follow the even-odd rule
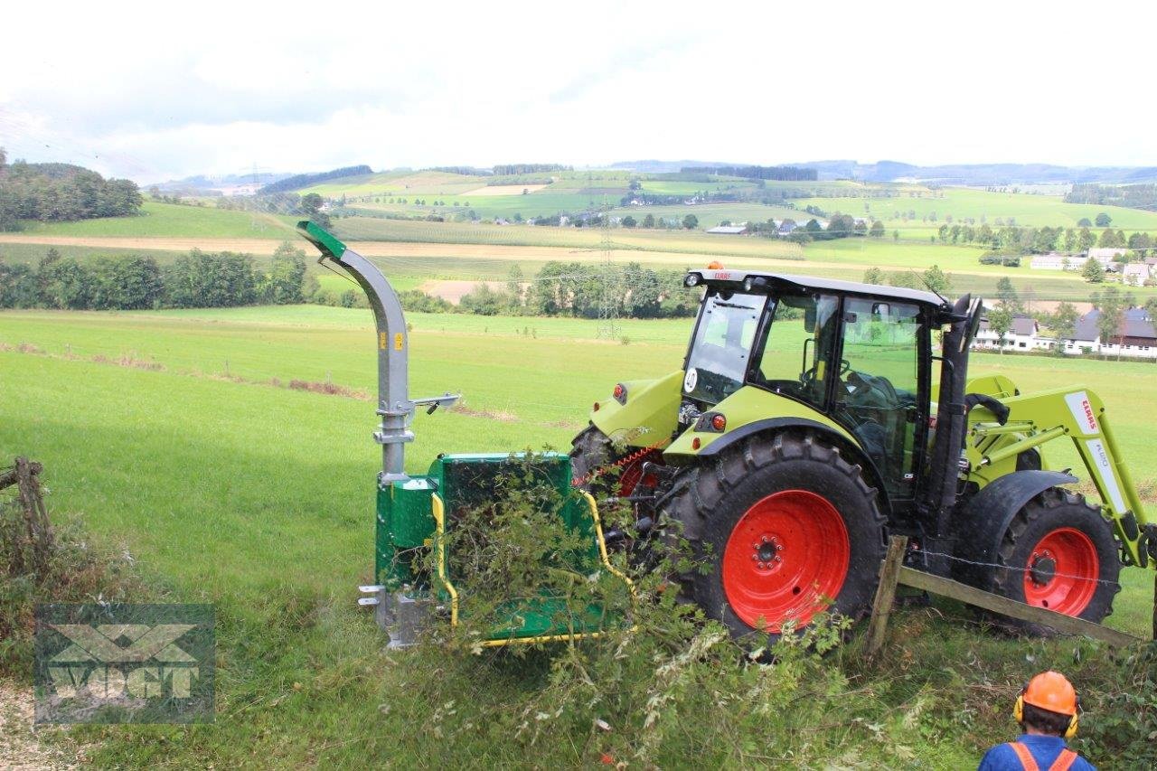
[[[1113,527],[1084,495],[1049,487],[1033,498],[1012,517],[997,555],[994,594],[1096,623],[1113,612],[1120,550]],[[993,619],[1010,631],[1052,633],[1007,616]]]

